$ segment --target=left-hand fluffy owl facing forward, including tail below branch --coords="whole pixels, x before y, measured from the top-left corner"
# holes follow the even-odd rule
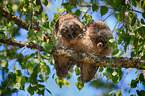
[[[75,49],[77,48],[77,41],[79,41],[83,35],[83,24],[77,16],[66,14],[56,21],[53,34],[58,47]],[[65,78],[68,71],[74,66],[75,61],[63,56],[53,57],[57,76],[59,78]]]

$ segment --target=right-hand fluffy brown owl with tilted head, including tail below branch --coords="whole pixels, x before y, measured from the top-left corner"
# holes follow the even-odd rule
[[[81,40],[83,52],[99,56],[106,56],[112,53],[112,48],[108,46],[108,37],[113,37],[113,35],[106,23],[91,21],[84,29],[86,30],[85,35]],[[98,69],[98,66],[85,62],[79,63],[79,66],[83,83],[92,80]]]

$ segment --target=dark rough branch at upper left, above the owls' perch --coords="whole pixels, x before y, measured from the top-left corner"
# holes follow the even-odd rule
[[[14,21],[20,28],[24,28],[24,29],[28,30],[28,28],[30,26],[29,24],[26,24],[26,22],[24,20],[22,20],[20,17],[17,17],[15,15],[3,10],[2,7],[0,7],[0,15],[10,21]],[[30,26],[30,28],[38,30],[37,27],[34,27],[32,25]]]

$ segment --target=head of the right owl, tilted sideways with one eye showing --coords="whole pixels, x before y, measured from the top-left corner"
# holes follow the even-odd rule
[[[92,41],[97,55],[110,55],[112,48],[108,46],[108,37],[113,37],[110,28],[102,21],[92,21],[85,26],[86,34]]]

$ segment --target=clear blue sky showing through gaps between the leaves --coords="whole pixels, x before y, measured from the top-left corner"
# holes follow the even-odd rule
[[[44,8],[44,10],[48,14],[48,18],[51,19],[51,18],[53,18],[54,13],[58,13],[56,11],[56,9],[62,8],[61,7],[61,0],[53,0],[53,2],[49,5],[49,7],[50,8]],[[98,20],[102,21],[110,14],[110,12],[108,12],[108,14],[101,17],[99,12],[100,11],[98,11],[97,13],[92,13],[92,17],[95,21],[98,21]],[[91,14],[91,13],[89,13],[89,14]],[[16,14],[16,15],[18,15],[18,14]],[[108,19],[106,19],[104,22],[113,31],[117,20],[112,15]],[[24,29],[20,29],[20,33],[21,33],[21,36],[16,37],[15,39],[17,41],[25,42],[24,38],[27,37],[27,31]],[[115,32],[113,33],[113,35],[115,37],[117,37]],[[124,49],[122,46],[118,46],[118,48],[120,51],[123,51],[123,49]],[[129,48],[131,49],[131,46]],[[19,53],[19,52],[21,52],[21,50],[22,50],[22,48],[17,52]],[[22,51],[22,53],[24,54],[25,52],[26,52],[26,55],[29,55],[35,51],[26,48],[26,50]],[[131,52],[131,50],[128,50],[127,51],[128,55],[124,55],[124,56],[130,57],[130,52]],[[10,63],[9,68],[12,68],[13,64],[15,63],[15,60],[9,61],[9,63]],[[49,63],[47,63],[47,64],[51,68],[51,73],[50,73],[50,78],[47,80],[46,83],[43,83],[43,84],[46,85],[46,88],[52,92],[52,96],[98,96],[99,94],[101,94],[101,92],[104,91],[104,90],[102,91],[100,89],[93,88],[92,86],[90,86],[90,82],[86,83],[85,87],[81,91],[79,91],[77,89],[77,87],[75,86],[75,82],[77,82],[77,77],[76,77],[74,72],[72,73],[72,78],[68,80],[70,82],[70,88],[67,88],[66,86],[59,88],[59,86],[55,83],[55,80],[52,79],[52,75],[56,72],[55,69],[53,68],[54,66],[50,65]],[[19,66],[18,63],[16,63],[16,65]],[[130,69],[122,68],[122,70],[123,70],[124,74],[126,74]],[[13,71],[13,70],[10,70],[10,71]],[[122,84],[124,84],[124,88],[130,88],[128,83],[130,83],[132,79],[135,79],[137,77],[137,74],[134,74],[135,71],[136,71],[135,68],[131,69],[130,72],[126,76],[124,83],[120,82],[118,85],[121,86]],[[101,73],[98,73],[98,74],[101,74]],[[132,74],[134,74],[134,75],[132,75]],[[56,75],[55,75],[55,78],[56,78]],[[105,81],[106,78],[104,77],[102,80]],[[110,81],[108,81],[108,82],[110,82]],[[26,86],[28,87],[28,84]],[[25,87],[25,90],[27,90],[27,87]],[[141,84],[138,85],[138,89],[143,89],[143,86]],[[135,94],[136,93],[135,90],[136,89],[133,89],[133,90],[131,90],[131,92]],[[124,94],[124,96],[127,96],[128,92],[124,91],[123,94]],[[27,91],[21,91],[21,90],[17,94],[13,94],[13,96],[16,96],[16,95],[17,96],[30,96],[30,94]],[[38,95],[34,94],[33,96],[38,96]],[[51,95],[47,91],[45,91],[45,96],[51,96]]]

